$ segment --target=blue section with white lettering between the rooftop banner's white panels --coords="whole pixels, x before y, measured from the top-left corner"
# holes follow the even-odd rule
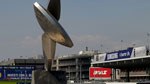
[[[107,53],[105,61],[130,58],[132,55],[132,51],[133,51],[133,48],[129,48],[127,50],[120,50],[120,51]]]

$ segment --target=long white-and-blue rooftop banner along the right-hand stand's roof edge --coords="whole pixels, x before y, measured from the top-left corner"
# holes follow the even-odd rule
[[[142,46],[142,47],[128,48],[125,50],[118,50],[118,51],[98,54],[94,56],[92,63],[142,57],[142,56],[146,56],[147,53],[146,51],[147,51],[146,47]]]

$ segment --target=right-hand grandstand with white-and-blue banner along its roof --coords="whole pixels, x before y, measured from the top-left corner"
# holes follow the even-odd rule
[[[112,68],[114,81],[145,81],[150,79],[150,53],[145,46],[95,55],[93,67]]]

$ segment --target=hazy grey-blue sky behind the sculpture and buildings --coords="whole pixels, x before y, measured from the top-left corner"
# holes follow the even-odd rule
[[[0,60],[42,54],[43,31],[34,15],[33,3],[44,7],[48,0],[0,1]],[[57,44],[56,55],[84,50],[103,51],[136,44],[146,45],[150,33],[150,0],[61,0],[60,23],[74,47]]]

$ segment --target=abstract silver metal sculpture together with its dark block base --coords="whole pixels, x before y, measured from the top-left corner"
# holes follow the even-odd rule
[[[38,23],[44,31],[42,48],[46,70],[33,71],[32,84],[66,84],[64,72],[51,71],[56,43],[67,47],[73,46],[70,37],[58,22],[60,19],[60,0],[50,0],[47,9],[35,2],[34,11]]]

